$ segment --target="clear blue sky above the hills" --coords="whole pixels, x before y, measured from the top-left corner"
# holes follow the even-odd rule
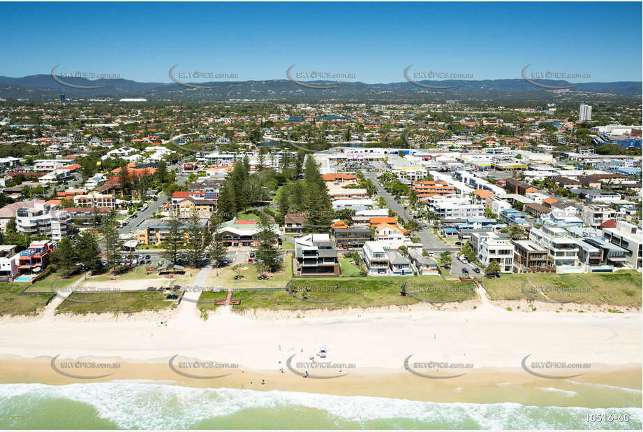
[[[168,70],[239,80],[318,71],[399,82],[415,71],[520,71],[641,80],[642,5],[632,3],[0,3],[0,75]],[[411,75],[413,78],[413,75]],[[190,80],[198,81],[198,80]]]

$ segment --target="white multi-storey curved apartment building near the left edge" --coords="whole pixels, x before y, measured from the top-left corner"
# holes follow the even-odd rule
[[[61,240],[71,232],[71,215],[66,211],[52,210],[47,203],[36,202],[34,208],[20,207],[15,213],[19,233],[31,236],[44,234],[52,240]]]

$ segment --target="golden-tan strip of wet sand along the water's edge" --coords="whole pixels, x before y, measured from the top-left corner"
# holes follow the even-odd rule
[[[449,380],[429,380],[407,373],[404,368],[367,368],[335,380],[304,379],[279,370],[253,370],[239,367],[226,370],[230,375],[214,379],[184,377],[168,367],[168,359],[154,361],[121,361],[111,358],[84,358],[82,361],[117,361],[119,369],[110,370],[110,377],[99,379],[77,379],[66,377],[50,367],[50,358],[34,359],[15,356],[0,357],[0,384],[45,384],[61,386],[68,384],[89,384],[98,382],[140,382],[141,384],[167,384],[197,389],[248,389],[253,391],[290,391],[334,396],[371,396],[404,399],[408,401],[430,401],[436,403],[501,403],[498,395],[494,401],[482,402],[475,389],[485,386],[523,386],[530,389],[549,390],[569,388],[575,385],[595,384],[630,391],[641,391],[641,368],[637,364],[609,366],[600,365],[591,374],[574,377],[571,380],[544,380],[524,373],[520,368],[480,368],[471,370],[462,377]],[[265,380],[265,384],[261,384]],[[252,384],[251,384],[252,383]],[[633,386],[637,384],[637,386]],[[465,391],[462,391],[465,389]],[[472,389],[473,391],[467,391]],[[560,390],[563,391],[564,390]],[[486,400],[486,399],[485,399]],[[542,406],[549,403],[542,399]],[[574,403],[570,401],[570,406]]]

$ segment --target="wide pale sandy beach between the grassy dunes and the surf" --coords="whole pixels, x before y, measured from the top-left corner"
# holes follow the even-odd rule
[[[55,361],[59,370],[64,361],[118,363],[112,370],[67,370],[83,377],[110,374],[100,380],[145,379],[193,387],[425,399],[435,398],[439,389],[450,389],[445,395],[452,395],[462,382],[547,381],[522,367],[523,359],[531,354],[528,364],[583,363],[584,369],[571,370],[581,373],[575,380],[629,387],[637,383],[640,388],[639,313],[528,313],[487,305],[468,310],[337,310],[326,316],[292,315],[264,312],[258,318],[224,307],[205,321],[194,303],[184,302],[168,313],[3,317],[0,382],[87,382],[54,371],[51,360],[59,356]],[[316,355],[321,346],[327,348],[326,358]],[[176,373],[168,365],[176,354],[174,365],[179,372],[226,376],[198,379]],[[193,361],[198,361],[193,369],[178,366]],[[451,366],[425,366],[431,361]],[[204,366],[207,362],[230,367]],[[327,368],[320,366],[324,362],[329,363]],[[425,369],[417,369],[418,364]],[[450,369],[454,365],[463,368],[464,375],[448,380],[426,379],[408,370],[431,376],[463,373]],[[317,377],[342,376],[306,380],[301,376],[306,371]],[[559,376],[566,370],[545,372]]]

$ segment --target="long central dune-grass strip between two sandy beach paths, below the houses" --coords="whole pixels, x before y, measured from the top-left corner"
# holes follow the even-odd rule
[[[413,296],[402,296],[401,287],[411,280]],[[239,290],[232,298],[239,298],[240,305],[233,305],[232,310],[252,308],[269,308],[274,310],[309,310],[339,308],[369,308],[387,305],[410,305],[420,303],[422,299],[430,301],[462,301],[475,297],[473,284],[468,282],[446,281],[441,276],[382,277],[382,278],[311,278],[297,279],[292,290],[297,298],[286,290]],[[440,288],[440,289],[436,289]],[[410,289],[408,290],[410,291]],[[434,291],[434,292],[433,292]],[[226,297],[225,293],[203,293],[201,300],[212,301]],[[201,310],[214,308],[212,304],[200,303]]]

